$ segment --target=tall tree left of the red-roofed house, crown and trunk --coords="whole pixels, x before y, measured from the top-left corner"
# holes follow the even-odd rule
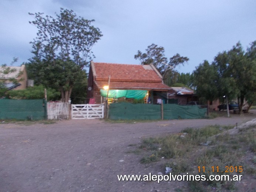
[[[43,17],[43,13],[29,14],[35,18],[30,23],[38,28],[37,37],[31,42],[31,67],[44,76],[38,81],[60,90],[62,100],[67,102],[76,78],[80,78],[77,75],[95,57],[91,49],[102,34],[92,25],[94,20],[77,17],[72,10],[61,8],[55,18]]]

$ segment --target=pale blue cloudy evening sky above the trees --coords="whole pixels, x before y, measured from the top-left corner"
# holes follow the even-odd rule
[[[255,0],[0,0],[0,64],[33,57],[37,28],[28,13],[54,16],[61,7],[95,20],[103,37],[92,48],[94,62],[140,64],[134,55],[154,43],[167,58],[187,56],[176,69],[192,73],[238,41],[246,50],[256,40]]]

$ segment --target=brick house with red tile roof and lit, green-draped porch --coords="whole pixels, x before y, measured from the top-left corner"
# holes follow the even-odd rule
[[[144,97],[145,103],[155,104],[157,99],[161,98],[157,96],[157,93],[167,94],[171,90],[169,86],[163,83],[161,74],[153,65],[111,64],[91,61],[87,97],[93,99],[95,103],[103,103],[107,95],[107,90],[103,88],[108,83],[108,97],[119,101]]]

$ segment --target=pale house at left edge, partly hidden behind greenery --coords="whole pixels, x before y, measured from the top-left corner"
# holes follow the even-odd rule
[[[4,81],[4,85],[8,90],[20,90],[27,87],[27,71],[25,65],[21,66],[6,66],[11,71],[4,74],[3,67],[0,67],[0,80]]]

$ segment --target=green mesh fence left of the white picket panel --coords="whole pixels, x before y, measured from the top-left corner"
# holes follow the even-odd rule
[[[0,119],[40,120],[47,118],[43,99],[0,99]]]

